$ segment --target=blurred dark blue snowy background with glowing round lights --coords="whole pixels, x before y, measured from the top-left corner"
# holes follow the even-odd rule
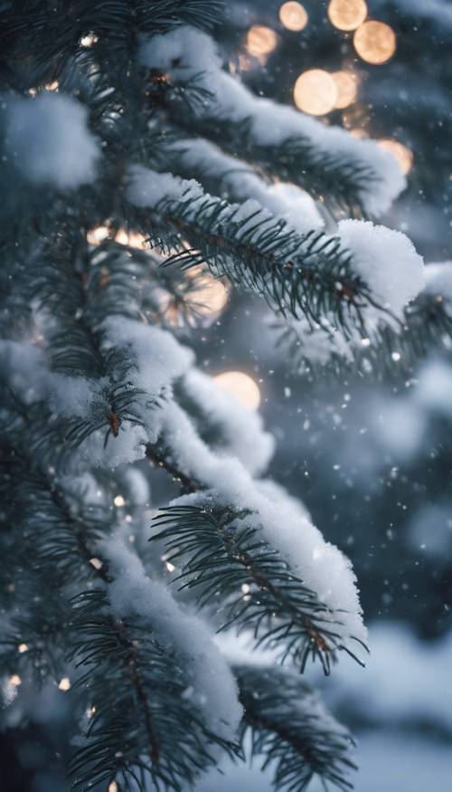
[[[378,138],[408,187],[383,224],[426,262],[452,258],[450,0],[229,2],[216,31],[261,96],[356,137]],[[133,243],[128,239],[128,243]],[[138,241],[139,243],[139,241]],[[452,778],[452,360],[402,375],[337,378],[293,370],[261,301],[206,282],[203,326],[185,338],[200,366],[261,411],[278,450],[270,474],[306,504],[353,561],[370,626],[366,669],[343,659],[327,680],[334,714],[358,740],[357,792],[429,792]],[[184,334],[182,335],[184,339]],[[156,482],[155,497],[168,495]],[[21,651],[19,649],[19,651]],[[24,650],[25,651],[25,650]],[[61,681],[63,683],[64,680]],[[66,696],[66,698],[65,698]],[[26,698],[29,735],[0,743],[1,792],[64,792],[58,759],[64,683]],[[52,710],[53,708],[53,710]],[[41,728],[54,717],[61,730]],[[271,768],[224,766],[196,792],[269,792]],[[112,785],[110,785],[112,786]],[[315,792],[313,785],[310,792]],[[115,792],[112,787],[111,792]],[[188,792],[188,790],[187,790]]]

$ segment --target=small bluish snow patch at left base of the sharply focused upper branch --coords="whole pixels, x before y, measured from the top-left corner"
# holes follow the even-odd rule
[[[182,179],[171,173],[157,173],[151,168],[131,165],[128,168],[127,201],[135,206],[155,208],[164,198],[198,198],[203,195],[202,186],[194,179]]]

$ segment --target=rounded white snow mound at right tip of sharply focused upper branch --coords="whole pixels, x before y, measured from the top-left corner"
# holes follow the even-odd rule
[[[425,277],[422,257],[408,236],[362,220],[342,220],[339,235],[375,301],[401,316],[422,290]]]

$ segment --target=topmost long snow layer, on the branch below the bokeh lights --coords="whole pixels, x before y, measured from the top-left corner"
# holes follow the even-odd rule
[[[287,138],[304,138],[321,155],[347,157],[369,167],[379,178],[360,197],[367,212],[381,215],[406,186],[405,177],[391,154],[371,140],[357,140],[344,129],[328,128],[293,108],[258,99],[234,76],[221,69],[221,58],[212,39],[190,26],[155,35],[142,44],[139,62],[160,69],[176,80],[196,76],[196,84],[212,92],[198,112],[206,118],[222,116],[241,121],[250,118],[250,134],[258,145],[279,146]],[[219,98],[219,105],[216,104]]]

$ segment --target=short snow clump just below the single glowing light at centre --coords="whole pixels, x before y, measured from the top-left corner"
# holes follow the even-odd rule
[[[184,393],[202,409],[202,424],[220,432],[211,446],[220,456],[236,456],[253,475],[265,471],[274,450],[274,439],[264,432],[259,413],[247,410],[231,394],[215,385],[212,377],[192,369],[182,383]]]

